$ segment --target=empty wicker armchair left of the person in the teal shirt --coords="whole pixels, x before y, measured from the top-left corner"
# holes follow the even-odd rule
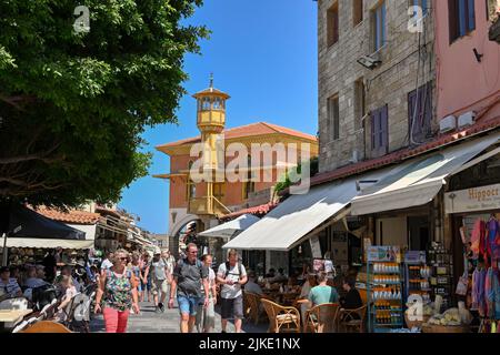
[[[300,333],[300,312],[296,307],[283,307],[270,300],[261,298],[269,318],[268,333]]]

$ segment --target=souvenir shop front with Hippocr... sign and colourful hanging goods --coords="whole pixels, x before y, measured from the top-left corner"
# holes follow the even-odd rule
[[[456,296],[479,318],[480,333],[500,333],[500,154],[450,180]]]

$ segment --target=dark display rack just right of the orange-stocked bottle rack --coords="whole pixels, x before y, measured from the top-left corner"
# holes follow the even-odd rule
[[[422,297],[423,304],[431,302],[432,267],[427,264],[424,251],[410,251],[404,255],[404,300],[412,295]]]

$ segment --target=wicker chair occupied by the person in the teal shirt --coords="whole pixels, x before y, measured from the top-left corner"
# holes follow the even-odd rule
[[[340,304],[324,303],[306,312],[304,333],[336,333]]]

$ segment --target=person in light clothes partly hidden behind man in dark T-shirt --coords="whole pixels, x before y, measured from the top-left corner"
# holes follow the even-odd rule
[[[216,272],[212,270],[212,255],[204,254],[201,256],[201,262],[209,271],[209,294],[208,294],[208,306],[203,307],[203,304],[198,305],[197,311],[197,329],[198,333],[210,333],[216,326],[216,303],[217,303],[217,283],[216,283]],[[203,296],[204,290],[202,290]]]

